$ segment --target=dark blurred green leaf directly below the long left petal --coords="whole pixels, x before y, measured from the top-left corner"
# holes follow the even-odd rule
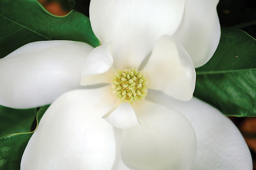
[[[35,117],[36,109],[19,110],[0,106],[0,137],[30,131]]]

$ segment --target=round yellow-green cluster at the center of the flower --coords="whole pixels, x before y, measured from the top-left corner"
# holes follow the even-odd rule
[[[113,76],[112,89],[122,102],[133,103],[147,95],[147,79],[134,68],[117,70]]]

